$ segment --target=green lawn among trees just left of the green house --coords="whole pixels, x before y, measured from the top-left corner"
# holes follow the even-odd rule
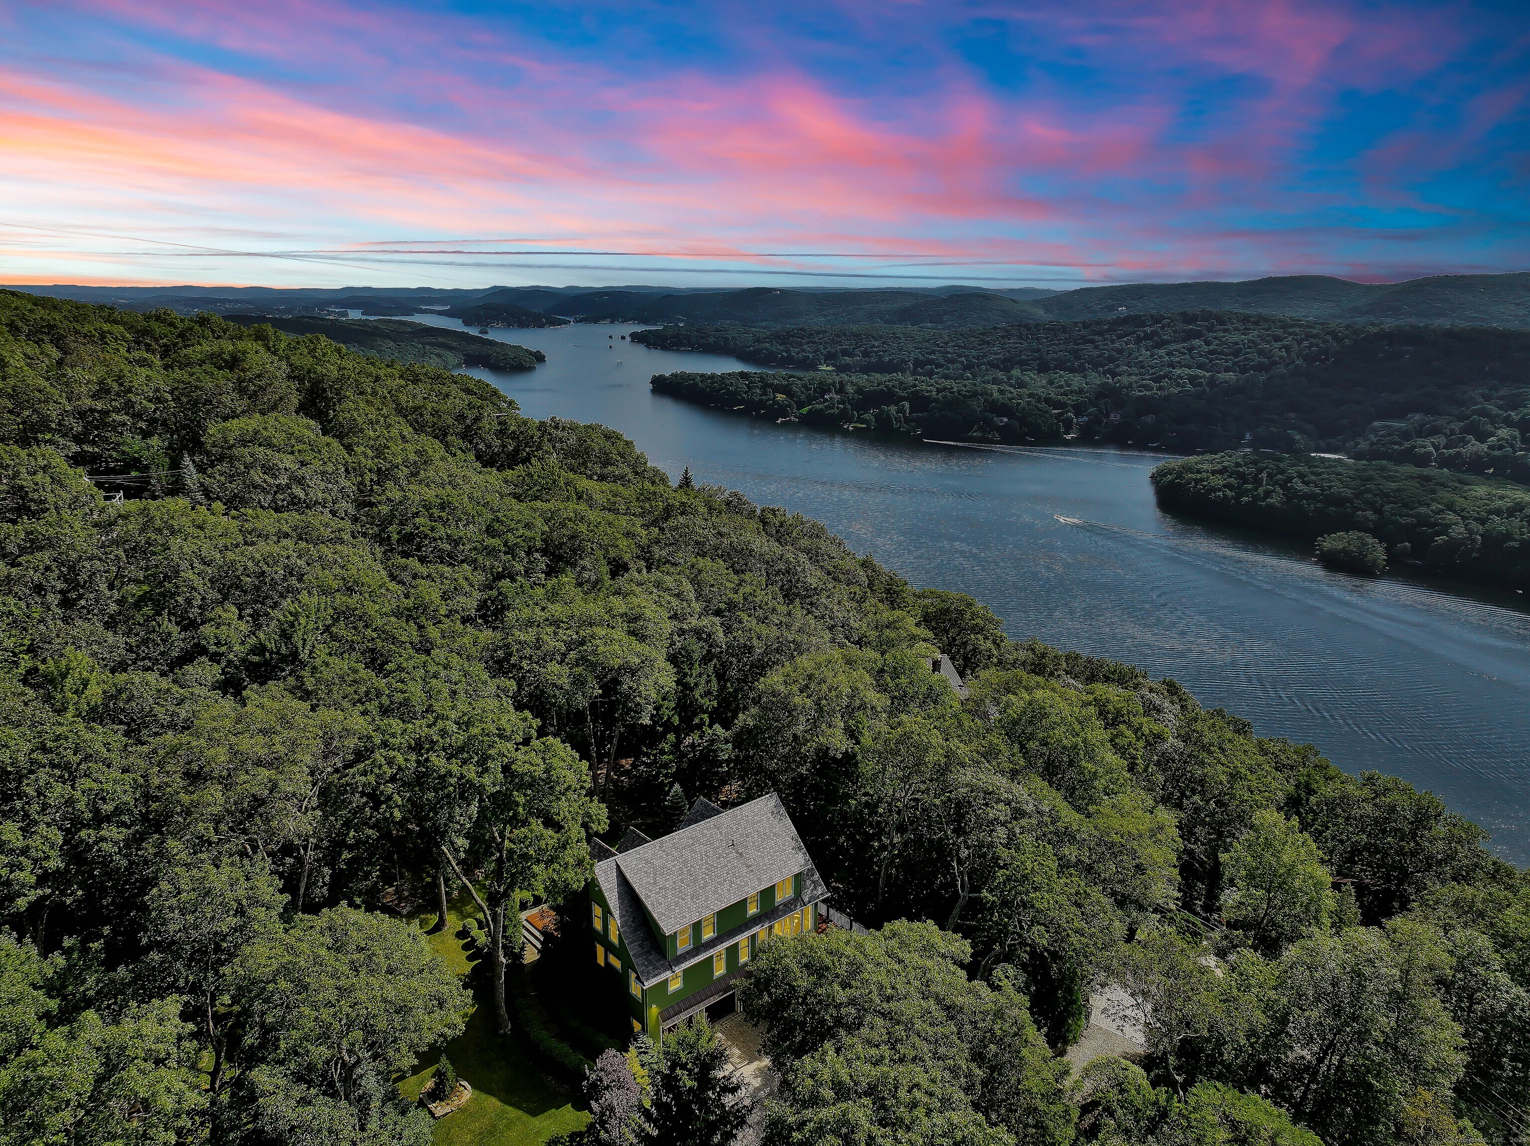
[[[471,906],[465,894],[454,900],[448,904],[447,929],[428,936],[457,975],[467,975],[473,965],[456,938]],[[428,927],[435,920],[430,913],[418,923]],[[433,1141],[438,1146],[539,1146],[554,1134],[575,1131],[589,1122],[589,1115],[574,1105],[583,1106],[578,1096],[549,1079],[519,1039],[494,1033],[491,1011],[491,1005],[476,1007],[468,1028],[447,1043],[447,1057],[473,1086],[473,1097],[436,1123]],[[436,1066],[435,1059],[421,1065],[418,1074],[399,1085],[409,1099],[419,1097]]]

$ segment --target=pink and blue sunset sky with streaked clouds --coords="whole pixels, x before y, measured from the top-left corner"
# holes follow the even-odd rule
[[[0,282],[1530,269],[1530,3],[0,0]]]

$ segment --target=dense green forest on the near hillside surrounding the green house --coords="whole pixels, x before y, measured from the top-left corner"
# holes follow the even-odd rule
[[[780,793],[878,929],[762,952],[771,1143],[1509,1143],[1530,1106],[1530,878],[1472,823],[610,430],[0,292],[0,1143],[428,1141],[395,1080],[474,1002],[516,1030],[506,920],[675,785]],[[473,995],[392,910],[459,872]],[[1148,1053],[1069,1079],[1108,982]]]

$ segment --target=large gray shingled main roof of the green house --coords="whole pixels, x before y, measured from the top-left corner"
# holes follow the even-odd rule
[[[620,868],[666,935],[812,866],[774,793],[607,863]]]

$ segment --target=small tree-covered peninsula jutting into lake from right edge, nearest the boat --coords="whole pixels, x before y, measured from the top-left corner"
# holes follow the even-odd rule
[[[1152,471],[1166,510],[1313,540],[1357,531],[1394,562],[1530,589],[1530,490],[1389,462],[1226,453]]]

